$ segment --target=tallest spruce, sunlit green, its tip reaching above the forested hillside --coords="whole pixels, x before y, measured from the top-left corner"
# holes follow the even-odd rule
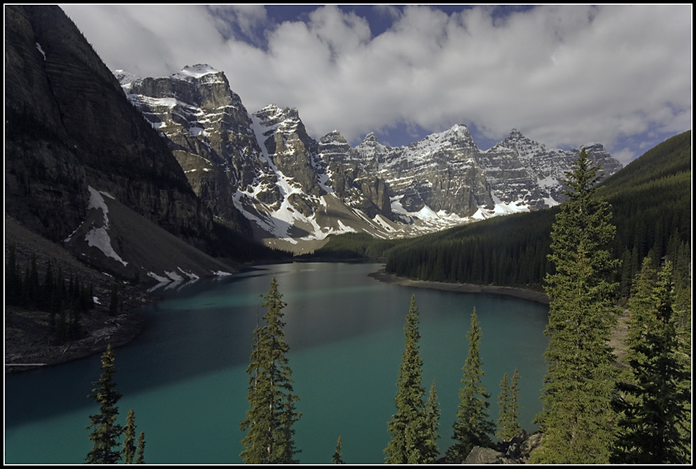
[[[584,148],[566,176],[567,202],[555,218],[548,255],[555,272],[546,275],[548,371],[537,415],[544,440],[530,462],[608,463],[616,430],[608,340],[617,289],[609,279],[618,264],[608,246],[616,228],[608,202],[593,196],[601,175]]]

